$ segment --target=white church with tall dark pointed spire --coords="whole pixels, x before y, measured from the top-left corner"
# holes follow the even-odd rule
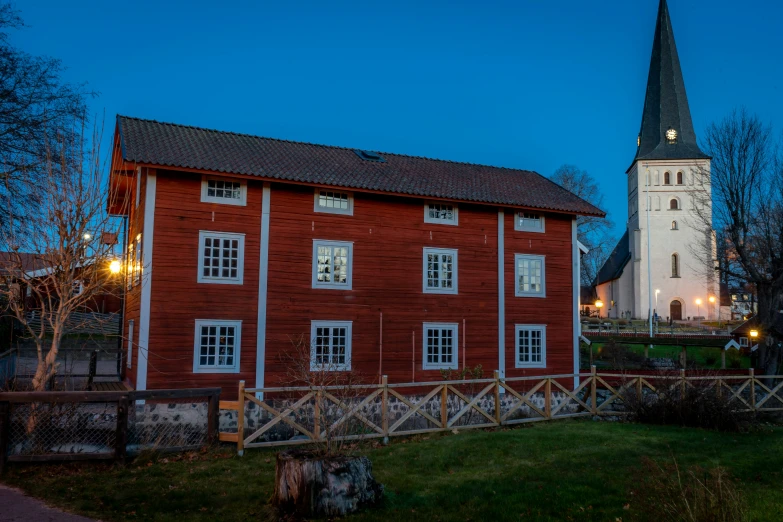
[[[710,158],[696,142],[666,0],[658,6],[636,145],[626,172],[627,231],[599,272],[598,295],[610,317],[647,319],[652,301],[663,320],[714,318],[717,289],[695,251],[713,242],[695,214],[711,212]]]

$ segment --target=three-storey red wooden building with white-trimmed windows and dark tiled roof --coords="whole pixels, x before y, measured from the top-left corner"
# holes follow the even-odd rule
[[[539,174],[120,116],[111,187],[136,389],[280,385],[297,338],[369,380],[578,368],[576,217],[604,214]]]

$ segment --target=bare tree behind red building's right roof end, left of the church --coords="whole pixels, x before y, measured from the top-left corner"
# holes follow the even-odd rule
[[[598,208],[603,208],[604,196],[595,179],[586,171],[574,165],[562,165],[552,177],[552,181],[584,199]],[[581,280],[583,284],[592,284],[598,271],[612,253],[616,238],[612,235],[614,224],[607,217],[579,216],[576,220],[577,237],[590,251],[582,258]]]

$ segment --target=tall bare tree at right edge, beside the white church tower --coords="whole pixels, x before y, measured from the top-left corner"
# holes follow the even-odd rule
[[[700,174],[708,176],[712,194],[710,198],[710,191],[692,191],[694,215],[705,234],[717,230],[718,246],[696,245],[695,252],[723,280],[755,288],[763,336],[758,367],[774,373],[783,341],[779,337],[783,327],[781,148],[772,127],[744,108],[710,124],[703,145],[712,156],[712,166]]]

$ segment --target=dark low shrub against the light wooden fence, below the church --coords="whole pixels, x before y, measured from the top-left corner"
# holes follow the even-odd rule
[[[676,374],[670,374],[676,375]],[[691,381],[684,392],[678,380],[648,379],[657,388],[639,397],[628,389],[623,401],[631,418],[644,424],[669,424],[717,431],[747,431],[756,423],[753,412],[743,411],[747,406],[723,390],[718,394],[713,381]]]

